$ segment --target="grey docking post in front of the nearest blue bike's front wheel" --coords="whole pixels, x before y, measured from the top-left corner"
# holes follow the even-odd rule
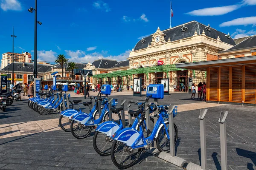
[[[174,125],[173,125],[173,110],[175,105],[169,105],[169,135],[170,135],[170,154],[175,156],[175,142],[174,142]]]

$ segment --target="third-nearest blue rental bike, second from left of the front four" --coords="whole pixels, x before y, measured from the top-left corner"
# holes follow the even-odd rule
[[[86,138],[94,127],[109,120],[108,98],[97,96],[97,100],[103,104],[102,113],[98,119],[94,119],[93,113],[78,113],[72,117],[70,131],[76,139]],[[117,102],[114,103],[117,105]],[[114,105],[112,105],[115,107]]]

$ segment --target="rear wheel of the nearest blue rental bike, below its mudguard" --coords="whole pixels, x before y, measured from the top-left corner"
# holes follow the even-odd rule
[[[131,149],[123,142],[114,141],[111,147],[111,159],[119,169],[132,167],[141,154],[142,149]]]

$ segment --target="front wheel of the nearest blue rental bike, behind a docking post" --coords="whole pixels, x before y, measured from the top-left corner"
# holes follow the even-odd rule
[[[166,131],[169,134],[169,122],[166,122],[165,125],[167,129],[164,126],[162,126],[157,136],[157,149],[160,152],[170,151],[170,139],[168,139],[166,134]],[[174,142],[176,144],[178,139],[178,129],[175,123],[173,125],[174,125]]]

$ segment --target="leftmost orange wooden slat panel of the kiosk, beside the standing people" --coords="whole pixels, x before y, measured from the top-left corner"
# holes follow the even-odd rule
[[[219,68],[209,68],[209,100],[218,101],[218,71]]]

